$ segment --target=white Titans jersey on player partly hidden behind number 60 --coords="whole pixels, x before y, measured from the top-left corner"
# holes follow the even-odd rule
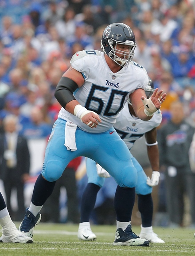
[[[160,110],[157,110],[150,120],[143,121],[130,114],[128,103],[126,103],[124,109],[117,117],[114,128],[130,150],[138,138],[159,126],[161,121],[162,113]]]

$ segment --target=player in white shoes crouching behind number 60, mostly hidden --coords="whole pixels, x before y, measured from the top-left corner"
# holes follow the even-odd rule
[[[148,86],[145,89],[147,98],[154,92],[153,88],[152,79],[149,78]],[[162,114],[160,110],[156,111],[148,121],[137,118],[131,102],[128,101],[118,115],[114,125],[115,130],[121,136],[129,150],[133,147],[134,142],[145,134],[148,158],[153,170],[152,179],[147,178],[136,158],[130,154],[133,165],[137,170],[136,194],[138,195],[138,209],[142,219],[140,237],[153,243],[164,243],[164,240],[160,239],[152,230],[153,201],[151,195],[152,187],[158,185],[160,177],[156,127],[160,125],[161,121]],[[90,158],[87,158],[86,167],[88,184],[82,195],[81,223],[78,228],[78,238],[79,240],[96,240],[96,235],[90,228],[90,213],[94,208],[98,191],[104,185],[105,178],[109,178],[109,173]]]

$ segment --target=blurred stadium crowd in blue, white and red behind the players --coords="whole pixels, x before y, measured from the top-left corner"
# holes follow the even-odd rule
[[[41,171],[47,138],[61,108],[54,97],[60,77],[77,51],[101,50],[102,32],[113,22],[133,29],[133,60],[167,93],[162,124],[170,119],[170,104],[180,100],[186,120],[195,127],[194,0],[1,0],[0,132],[7,115],[19,118],[31,154],[28,185],[33,187],[33,177]],[[80,169],[78,187],[86,184]],[[25,189],[28,205],[31,185]],[[111,197],[114,189],[109,193]]]

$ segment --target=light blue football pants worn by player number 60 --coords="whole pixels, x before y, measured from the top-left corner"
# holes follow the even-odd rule
[[[137,171],[131,154],[114,128],[104,133],[88,133],[77,127],[77,150],[70,151],[64,146],[65,125],[66,121],[58,118],[51,131],[42,169],[42,175],[47,181],[59,179],[72,159],[85,156],[107,170],[119,186],[136,186]]]

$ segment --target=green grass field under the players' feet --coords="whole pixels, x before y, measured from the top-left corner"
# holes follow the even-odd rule
[[[19,223],[16,223],[19,226]],[[115,226],[92,226],[96,241],[77,238],[78,225],[39,223],[34,230],[33,244],[0,243],[0,256],[194,256],[195,230],[189,228],[154,227],[165,244],[148,247],[113,246]],[[140,227],[133,227],[139,235]]]

